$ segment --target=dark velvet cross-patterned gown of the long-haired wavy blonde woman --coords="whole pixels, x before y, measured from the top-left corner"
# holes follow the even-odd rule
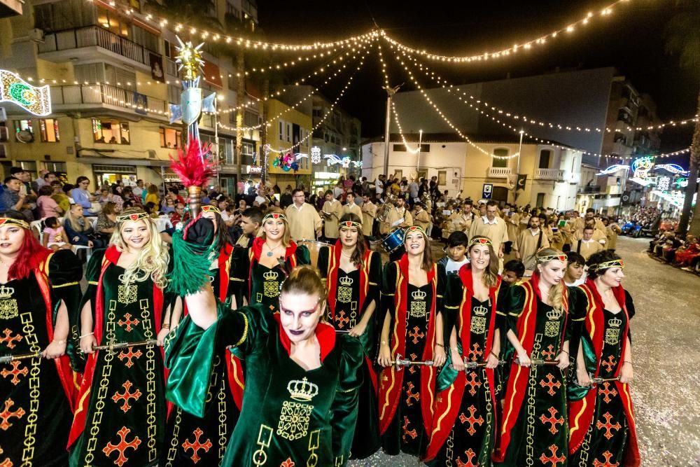
[[[87,265],[83,302],[90,300],[93,314],[104,255],[96,251]],[[155,339],[162,324],[155,319],[153,281],[125,285],[124,272],[114,263],[104,270],[102,344]],[[167,420],[162,349],[99,351],[87,397],[85,428],[71,446],[71,467],[158,466]]]

